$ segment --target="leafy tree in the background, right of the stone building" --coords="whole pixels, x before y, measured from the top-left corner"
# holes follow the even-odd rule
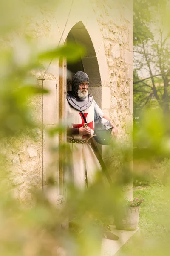
[[[141,4],[147,6],[147,12]],[[162,25],[166,4],[134,2],[134,114],[144,106],[170,112],[170,32]]]

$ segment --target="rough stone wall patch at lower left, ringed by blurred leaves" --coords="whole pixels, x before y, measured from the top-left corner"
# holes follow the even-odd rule
[[[14,198],[31,204],[31,190],[42,184],[42,134],[39,128],[33,130],[34,135],[8,141],[8,177],[11,180]]]

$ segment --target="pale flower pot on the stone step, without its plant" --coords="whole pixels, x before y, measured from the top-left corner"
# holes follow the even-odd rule
[[[137,230],[140,206],[127,207],[122,216],[115,219],[116,229]]]

